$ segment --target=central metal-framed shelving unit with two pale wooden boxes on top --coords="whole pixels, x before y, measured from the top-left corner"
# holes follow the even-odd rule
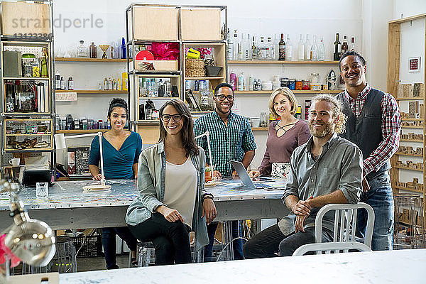
[[[214,11],[213,15],[219,17],[202,17],[202,13]],[[192,13],[194,13],[192,15]],[[194,16],[195,21],[212,21],[212,26],[219,23],[219,35],[211,36],[209,31],[206,33],[198,31],[202,25],[192,25],[193,29],[188,29],[188,23],[183,19],[188,15]],[[185,80],[209,80],[212,87],[220,82],[226,82],[228,74],[227,57],[226,57],[226,38],[227,38],[227,7],[226,6],[193,6],[193,5],[157,5],[157,4],[131,4],[126,9],[126,51],[127,51],[127,72],[128,72],[128,99],[129,99],[129,123],[134,126],[134,130],[151,131],[153,126],[158,126],[159,121],[141,120],[138,116],[139,99],[151,99],[154,102],[165,102],[166,99],[172,97],[142,97],[138,94],[138,78],[139,77],[161,77],[170,78],[178,85],[179,99],[185,101]],[[207,20],[206,20],[207,19]],[[144,29],[144,25],[150,25],[150,31]],[[209,26],[211,27],[211,26]],[[201,27],[200,29],[202,29]],[[210,28],[214,30],[213,28]],[[151,31],[152,30],[152,31]],[[217,31],[217,30],[216,30]],[[193,32],[193,34],[192,34]],[[202,34],[200,36],[200,34]],[[206,35],[207,34],[207,35]],[[193,35],[193,36],[192,36]],[[204,38],[203,38],[204,36]],[[197,38],[198,37],[198,38]],[[178,70],[170,71],[141,71],[136,70],[136,60],[133,60],[137,45],[149,45],[151,43],[178,43],[180,55],[178,58]],[[217,77],[185,77],[185,46],[188,47],[212,47],[215,50],[215,55],[219,58],[214,58],[217,66],[222,66],[223,70]],[[203,113],[207,113],[204,111]],[[195,112],[194,112],[195,114]],[[158,129],[155,128],[158,132]],[[146,134],[146,133],[144,133]],[[150,133],[151,134],[151,133]],[[150,136],[148,134],[148,136]],[[157,134],[158,135],[158,134]],[[151,135],[153,136],[153,135]],[[153,139],[154,142],[155,139]],[[155,141],[156,142],[156,141]],[[146,143],[146,139],[144,141]]]

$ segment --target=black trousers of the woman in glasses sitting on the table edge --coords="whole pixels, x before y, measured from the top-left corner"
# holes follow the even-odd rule
[[[152,241],[155,248],[155,265],[191,263],[190,227],[182,222],[168,222],[162,214],[128,225],[133,236],[141,241]]]

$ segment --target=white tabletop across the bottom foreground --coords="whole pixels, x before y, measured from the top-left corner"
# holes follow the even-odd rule
[[[290,256],[60,274],[60,284],[426,283],[426,249]]]

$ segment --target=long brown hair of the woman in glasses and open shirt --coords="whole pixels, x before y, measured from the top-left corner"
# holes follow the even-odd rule
[[[197,143],[195,143],[194,121],[192,121],[191,112],[190,109],[188,109],[187,104],[180,99],[170,99],[163,104],[163,107],[160,108],[160,120],[161,116],[163,116],[163,111],[167,106],[174,107],[176,111],[178,111],[178,114],[182,115],[183,126],[180,130],[180,135],[182,136],[182,146],[185,149],[185,155],[187,157],[189,155],[198,155],[200,151]],[[167,136],[167,131],[164,129],[163,121],[160,121],[160,138],[158,139],[158,142],[164,141],[165,136]]]

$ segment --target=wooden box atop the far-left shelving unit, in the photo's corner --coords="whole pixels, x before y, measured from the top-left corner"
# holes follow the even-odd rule
[[[21,21],[23,19],[23,21]],[[1,2],[1,34],[13,35],[52,33],[48,4]]]

